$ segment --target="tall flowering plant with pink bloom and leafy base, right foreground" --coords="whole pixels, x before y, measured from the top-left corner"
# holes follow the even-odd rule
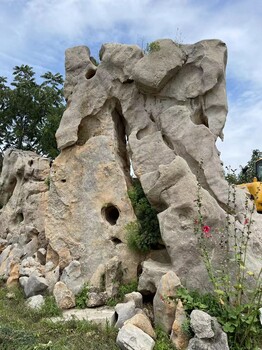
[[[205,225],[202,216],[202,198],[198,185],[197,210],[195,219],[195,235],[198,240],[200,256],[205,264],[209,280],[213,286],[213,296],[209,298],[192,295],[184,290],[181,297],[186,309],[198,308],[216,316],[225,332],[228,334],[231,350],[254,350],[262,341],[262,331],[259,322],[259,308],[262,302],[262,269],[255,275],[247,269],[247,252],[250,242],[252,214],[245,203],[245,213],[242,226],[234,216],[228,214],[225,228],[220,232],[219,246],[223,249],[224,261],[219,267],[213,265],[208,249],[208,240],[212,239],[212,227]],[[235,208],[236,189],[229,187],[228,207]],[[234,274],[232,274],[232,270]]]

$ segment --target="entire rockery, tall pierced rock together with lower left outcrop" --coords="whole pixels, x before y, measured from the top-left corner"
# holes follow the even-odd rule
[[[245,211],[241,190],[235,203],[228,202],[216,148],[227,114],[226,60],[219,40],[158,40],[146,53],[135,45],[105,44],[97,66],[87,47],[68,49],[67,109],[56,133],[61,153],[51,171],[49,160],[32,152],[4,156],[0,274],[10,283],[19,279],[28,295],[42,293],[40,281],[50,292],[63,283],[72,295],[88,282],[92,306],[115,296],[146,259],[127,247],[125,227],[136,219],[127,194],[134,172],[158,212],[167,257],[166,263],[142,264],[149,272],[140,290],[155,293],[170,268],[187,287],[208,287],[193,234],[197,196],[212,232],[223,230],[227,212],[241,227]],[[247,266],[258,270],[261,225],[254,227]],[[220,239],[214,233],[209,242],[214,264],[223,260]]]

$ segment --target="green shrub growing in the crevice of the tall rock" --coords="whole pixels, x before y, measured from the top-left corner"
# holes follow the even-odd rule
[[[133,187],[128,191],[137,222],[126,226],[128,247],[139,252],[154,249],[160,241],[157,212],[146,198],[138,179],[133,179]]]

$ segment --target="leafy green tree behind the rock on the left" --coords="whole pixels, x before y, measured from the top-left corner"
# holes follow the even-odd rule
[[[0,149],[33,150],[56,157],[55,132],[65,109],[63,78],[47,72],[42,83],[28,65],[16,66],[11,86],[0,77]]]

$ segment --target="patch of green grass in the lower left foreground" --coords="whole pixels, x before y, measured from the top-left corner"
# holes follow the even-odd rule
[[[20,289],[0,287],[1,350],[114,350],[116,330],[102,329],[86,321],[53,323],[52,316],[61,314],[53,297],[46,297],[39,311],[28,309]]]

